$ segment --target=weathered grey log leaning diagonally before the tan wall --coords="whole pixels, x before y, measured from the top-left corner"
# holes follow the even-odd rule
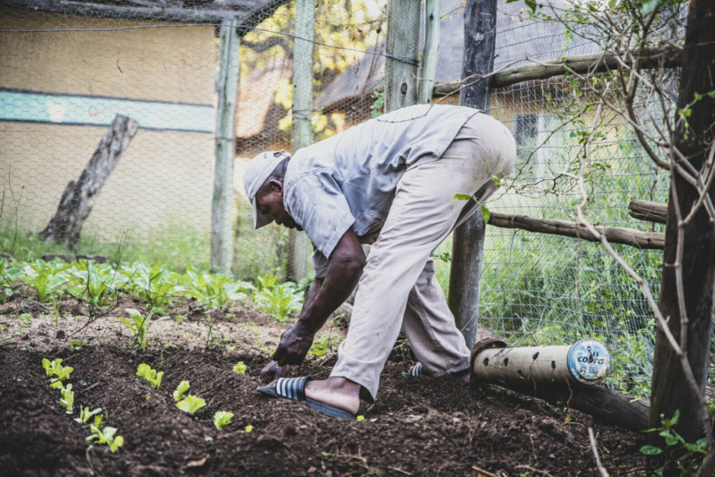
[[[104,187],[109,174],[119,162],[124,149],[127,149],[134,134],[137,134],[139,123],[134,119],[117,114],[99,142],[97,150],[92,154],[87,166],[77,182],[69,181],[62,192],[59,207],[54,217],[49,221],[39,236],[45,240],[64,242],[69,250],[74,250],[79,241],[84,222],[92,212],[95,197]]]

